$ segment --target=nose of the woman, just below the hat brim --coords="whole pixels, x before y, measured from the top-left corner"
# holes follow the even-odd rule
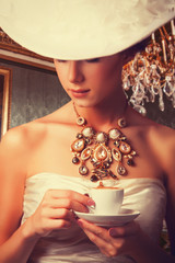
[[[68,79],[72,83],[79,83],[84,80],[84,75],[82,71],[81,61],[70,60],[69,61],[69,72]]]

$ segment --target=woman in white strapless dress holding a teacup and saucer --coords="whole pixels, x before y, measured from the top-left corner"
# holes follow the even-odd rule
[[[158,245],[166,217],[174,253],[175,134],[128,106],[120,78],[129,59],[128,46],[92,57],[91,48],[85,55],[81,50],[80,56],[73,55],[73,46],[72,56],[63,52],[52,56],[59,57],[55,59],[56,70],[71,101],[3,137],[0,262],[175,262]],[[86,136],[93,141],[86,141],[83,149],[90,146],[95,151],[94,147],[101,146],[97,132],[108,136],[108,145],[112,149],[108,130],[116,126],[127,137],[129,155],[119,151],[127,158],[120,162],[113,156],[112,162],[98,168],[91,163],[92,155],[82,160],[80,145],[74,141],[80,142],[84,127],[93,127],[94,134]],[[140,210],[136,220],[107,229],[75,218],[73,210],[88,213],[88,207],[95,205],[85,194],[98,185],[101,176],[104,185],[124,187],[124,207]]]

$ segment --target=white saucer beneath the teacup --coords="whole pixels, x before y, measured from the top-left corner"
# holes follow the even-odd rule
[[[119,213],[114,215],[95,215],[92,213],[80,213],[74,211],[74,214],[82,219],[85,219],[90,222],[94,222],[101,227],[115,227],[115,226],[124,226],[127,222],[132,221],[140,215],[140,211],[120,208]]]

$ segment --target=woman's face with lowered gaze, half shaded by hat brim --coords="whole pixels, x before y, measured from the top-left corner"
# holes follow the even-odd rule
[[[55,59],[63,89],[79,106],[96,106],[119,95],[122,65],[122,54],[88,60]]]

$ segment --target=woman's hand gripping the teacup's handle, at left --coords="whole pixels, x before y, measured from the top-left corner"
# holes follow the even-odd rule
[[[86,213],[94,202],[85,195],[68,190],[48,190],[36,211],[28,218],[30,232],[45,237],[52,230],[69,228],[78,210]]]

